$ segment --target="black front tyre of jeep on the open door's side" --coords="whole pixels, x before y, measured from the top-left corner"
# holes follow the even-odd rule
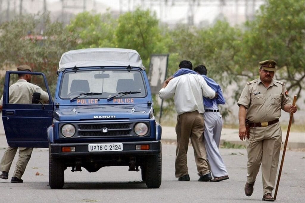
[[[64,184],[65,173],[63,161],[51,156],[51,147],[49,145],[49,186],[52,189],[61,189]]]

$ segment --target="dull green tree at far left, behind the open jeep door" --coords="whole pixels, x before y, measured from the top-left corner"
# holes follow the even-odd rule
[[[76,47],[75,36],[62,23],[52,23],[48,15],[15,18],[2,23],[0,30],[0,67],[15,69],[21,64],[30,65],[33,71],[45,73],[54,95],[59,59]]]

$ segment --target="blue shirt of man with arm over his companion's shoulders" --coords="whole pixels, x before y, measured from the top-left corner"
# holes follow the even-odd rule
[[[188,74],[188,73],[198,74],[197,72],[190,70],[188,68],[180,68],[177,72],[174,73],[173,77],[178,77],[180,75]],[[221,88],[217,84],[217,82],[215,82],[213,79],[210,79],[206,75],[201,75],[201,76],[205,79],[206,84],[208,84],[208,86],[210,86],[215,92],[218,93],[218,96],[215,99],[203,97],[204,105],[207,107],[212,107],[213,106],[212,100],[216,100],[217,104],[224,104],[226,102],[226,100],[224,99],[224,96],[222,95],[222,92],[221,92]]]

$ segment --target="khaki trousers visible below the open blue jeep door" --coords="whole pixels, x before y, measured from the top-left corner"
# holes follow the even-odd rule
[[[7,147],[1,159],[0,171],[9,172],[13,159],[16,155],[17,149],[18,147],[10,147],[10,146]],[[19,147],[19,156],[16,162],[16,167],[13,177],[17,177],[19,179],[22,177],[25,168],[27,167],[27,163],[31,158],[32,152],[33,152],[33,148]]]

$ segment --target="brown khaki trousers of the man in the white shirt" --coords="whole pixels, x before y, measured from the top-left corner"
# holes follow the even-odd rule
[[[177,148],[175,161],[175,176],[182,177],[188,174],[187,157],[188,142],[194,149],[198,175],[209,173],[209,163],[206,160],[206,149],[203,143],[204,122],[203,115],[197,111],[186,112],[177,117],[176,134]]]

